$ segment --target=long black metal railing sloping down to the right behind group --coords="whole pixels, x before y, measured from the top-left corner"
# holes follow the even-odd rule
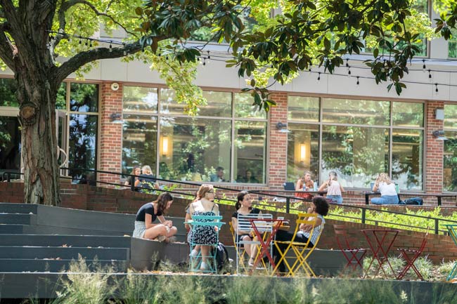
[[[120,177],[127,176],[127,177],[131,177],[132,180],[135,180],[135,178],[139,177],[134,174],[117,173],[117,172],[112,172],[112,171],[103,171],[103,170],[88,169],[88,168],[62,168],[62,169],[68,170],[68,171],[71,170],[71,171],[92,172],[92,173],[96,173],[96,174],[103,173],[103,174],[120,176]],[[9,183],[9,182],[11,182],[11,176],[20,176],[22,174],[24,174],[24,173],[6,171],[3,173],[2,178],[4,180],[6,180],[6,182]],[[61,176],[61,178],[69,178],[72,180],[80,180],[80,181],[82,180],[82,181],[84,181],[84,183],[89,183],[89,184],[90,183],[95,183],[95,184],[99,183],[99,184],[103,184],[103,185],[113,185],[116,187],[127,189],[127,186],[123,185],[121,183],[110,183],[110,182],[105,182],[105,181],[101,181],[101,180],[91,180],[88,178],[75,178],[75,177],[71,177],[71,176]],[[187,186],[191,186],[191,187],[195,187],[195,188],[185,189],[185,190],[183,189],[183,190],[179,191],[180,190],[179,188],[174,189],[173,187],[167,187],[165,185],[165,187],[162,187],[162,188],[150,189],[150,188],[146,188],[146,187],[135,186],[134,183],[132,183],[132,185],[130,185],[129,188],[131,191],[135,191],[138,189],[138,190],[143,190],[145,192],[151,192],[153,194],[157,193],[157,192],[170,192],[172,194],[180,194],[180,195],[183,195],[186,197],[195,197],[195,192],[189,193],[188,191],[195,191],[198,189],[198,187],[200,187],[200,185],[202,185],[204,183],[209,183],[209,182],[195,183],[195,182],[188,182],[188,181],[182,181],[182,180],[167,180],[165,178],[154,178],[154,179],[157,181],[160,181],[162,183],[167,183],[167,184],[171,184],[171,185],[176,185],[176,184],[177,185],[187,185]],[[217,189],[217,190],[226,190],[226,191],[230,191],[230,192],[239,192],[240,191],[239,189],[234,189],[231,187],[222,187],[220,185],[213,185],[213,187],[214,187],[214,189]],[[285,213],[298,213],[300,211],[305,211],[307,208],[307,206],[304,206],[302,203],[309,202],[309,200],[303,199],[301,197],[295,197],[295,196],[290,196],[290,195],[285,195],[285,194],[278,194],[278,193],[289,193],[289,192],[295,193],[296,191],[293,191],[293,190],[246,190],[246,191],[250,192],[250,194],[257,195],[257,206],[260,206],[260,207],[263,207],[266,209],[273,209],[271,211],[279,211],[279,212],[285,211]],[[273,194],[266,193],[266,192],[272,192]],[[316,193],[324,194],[326,192],[324,191],[324,192],[316,192]],[[264,199],[264,197],[270,197],[273,199],[268,200],[268,199]],[[216,201],[219,201],[222,203],[224,203],[224,201],[227,201],[227,202],[230,202],[231,204],[234,204],[236,202],[236,200],[229,199],[227,197],[217,197]],[[271,201],[274,204],[269,204]],[[278,203],[285,203],[285,204],[284,204],[284,206],[278,206]],[[297,206],[301,206],[302,208],[293,208],[294,206],[292,206],[292,203],[295,203]],[[446,234],[446,230],[439,230],[439,225],[444,225],[444,223],[457,224],[456,220],[446,220],[444,218],[431,218],[431,217],[427,217],[427,216],[418,216],[418,215],[413,215],[413,214],[408,214],[408,213],[401,213],[398,211],[373,209],[373,208],[369,208],[369,207],[366,207],[363,205],[359,206],[359,205],[339,204],[337,206],[346,207],[348,209],[359,209],[361,211],[360,217],[342,216],[339,214],[332,214],[332,213],[329,213],[329,216],[335,216],[337,218],[341,217],[341,218],[346,218],[346,219],[359,220],[363,224],[365,224],[367,222],[372,222],[375,225],[382,223],[382,224],[387,224],[387,225],[394,225],[394,226],[397,225],[400,227],[409,227],[409,228],[415,228],[415,229],[420,229],[420,230],[427,230],[426,227],[405,225],[405,224],[399,224],[399,223],[385,222],[382,220],[370,219],[370,218],[367,218],[367,216],[366,216],[367,211],[375,211],[377,213],[392,213],[392,214],[398,214],[401,216],[411,216],[413,218],[422,218],[425,220],[433,220],[435,234],[439,234],[439,232],[443,232],[444,234]]]

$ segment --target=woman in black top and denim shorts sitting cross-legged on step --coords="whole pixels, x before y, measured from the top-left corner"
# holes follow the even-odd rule
[[[176,242],[174,234],[178,229],[173,226],[171,220],[165,220],[163,213],[172,206],[173,197],[168,192],[163,192],[157,197],[157,200],[141,206],[136,213],[134,237],[140,239],[157,239],[162,242]],[[158,218],[160,224],[153,224]]]

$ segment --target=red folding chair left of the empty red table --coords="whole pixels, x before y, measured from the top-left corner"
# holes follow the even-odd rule
[[[347,260],[345,269],[351,266],[354,271],[357,270],[357,267],[360,267],[360,269],[363,270],[363,256],[365,256],[368,249],[354,248],[354,246],[349,244],[349,237],[345,225],[333,225],[333,230],[335,230],[336,242]]]

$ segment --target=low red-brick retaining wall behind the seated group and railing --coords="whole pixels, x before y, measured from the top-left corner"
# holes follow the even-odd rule
[[[115,190],[106,187],[93,187],[89,185],[72,185],[63,183],[61,185],[62,206],[74,209],[94,210],[94,211],[109,211],[117,213],[136,213],[139,207],[147,201],[155,199],[154,195],[142,194],[139,192],[131,192],[130,190]],[[24,187],[22,183],[0,183],[0,197],[2,201],[11,203],[23,203]],[[168,216],[181,217],[185,216],[185,209],[189,201],[186,199],[175,198],[172,207],[168,211]],[[306,209],[307,205],[304,206]],[[375,207],[375,206],[371,206]],[[380,206],[376,208],[381,208]],[[404,211],[404,206],[382,206],[382,208],[391,209],[394,211]],[[410,209],[427,209],[430,207],[411,206]],[[231,220],[231,214],[235,211],[234,206],[220,205],[219,210],[224,218],[223,229],[221,230],[220,239],[225,244],[232,244],[231,232],[228,223]],[[442,208],[442,213],[449,214],[455,209]],[[273,216],[284,216],[291,220],[292,223],[296,217],[291,214],[273,213]],[[340,222],[337,220],[327,220],[326,229],[323,232],[318,248],[321,249],[337,249],[335,242],[335,234],[333,232],[334,223],[344,223],[347,231],[352,239],[352,242],[357,247],[366,247],[366,239],[361,233],[361,229],[373,229],[376,226],[365,225],[359,223]],[[292,225],[292,227],[294,227]],[[401,231],[394,243],[394,249],[399,246],[404,248],[416,248],[422,242],[423,234],[420,232]],[[457,248],[451,241],[450,237],[444,235],[430,234],[424,255],[433,260],[435,263],[441,263],[444,260],[457,259]]]

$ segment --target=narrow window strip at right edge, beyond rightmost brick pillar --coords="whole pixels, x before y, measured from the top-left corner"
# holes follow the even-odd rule
[[[457,105],[444,105],[443,191],[457,192]]]

